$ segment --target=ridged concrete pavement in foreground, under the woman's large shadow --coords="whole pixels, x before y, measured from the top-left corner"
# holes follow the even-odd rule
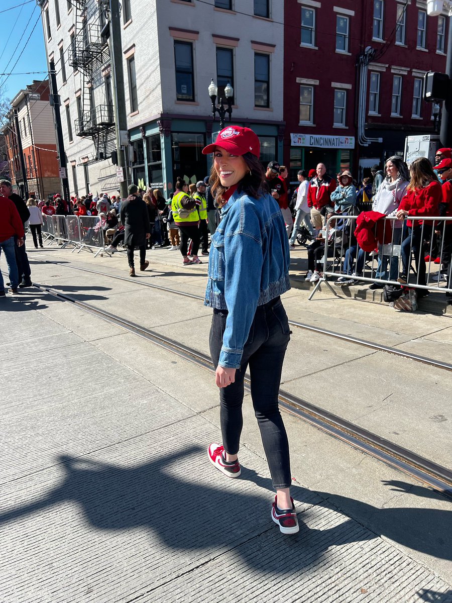
[[[300,533],[280,534],[259,448],[242,446],[237,480],[207,460],[221,435],[205,371],[36,292],[2,300],[0,329],[1,603],[452,602],[390,540],[407,518],[422,525],[422,504],[368,505],[382,537],[294,482]],[[447,539],[439,507],[425,511]]]

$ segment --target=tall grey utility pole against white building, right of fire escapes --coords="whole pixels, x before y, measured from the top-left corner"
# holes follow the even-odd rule
[[[119,0],[108,0],[110,5],[110,56],[113,71],[113,107],[115,109],[116,149],[118,150],[118,168],[122,168],[124,180],[119,183],[121,197],[127,192],[127,168],[125,163],[125,145],[127,140],[127,113],[125,112],[124,71],[122,69],[121,13]]]

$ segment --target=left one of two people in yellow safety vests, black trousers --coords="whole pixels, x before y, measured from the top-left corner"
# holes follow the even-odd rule
[[[199,249],[199,213],[196,209],[196,202],[189,197],[188,185],[181,178],[177,178],[176,189],[171,201],[172,217],[180,230],[180,252],[183,257],[183,264],[202,264],[198,257]],[[193,259],[187,256],[188,241],[192,239]]]

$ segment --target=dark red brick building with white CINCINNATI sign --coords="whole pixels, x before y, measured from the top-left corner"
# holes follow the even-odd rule
[[[425,0],[286,0],[284,24],[290,180],[319,161],[362,175],[407,135],[433,133],[422,86],[445,71],[445,14],[428,17]]]

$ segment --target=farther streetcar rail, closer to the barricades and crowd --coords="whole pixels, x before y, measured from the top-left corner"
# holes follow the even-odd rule
[[[105,276],[111,279],[124,280],[127,283],[133,283],[135,285],[141,285],[145,287],[150,287],[152,289],[159,289],[159,291],[165,291],[167,293],[174,293],[175,295],[182,295],[183,297],[190,297],[195,300],[204,301],[204,297],[200,297],[199,295],[195,295],[193,293],[187,293],[185,291],[178,291],[177,289],[171,289],[167,287],[163,287],[161,285],[153,285],[152,283],[140,282],[139,280],[131,280],[130,277],[118,276],[116,274],[106,274],[104,272],[90,270],[89,268],[81,268],[78,266],[68,266],[60,264],[60,262],[52,262],[51,260],[45,260],[46,264],[55,264],[58,266],[62,266],[64,268],[71,268],[72,270],[81,270],[83,272],[88,272],[91,274],[96,274],[98,276]],[[346,341],[347,343],[356,344],[357,346],[368,347],[377,352],[385,352],[388,354],[392,354],[394,356],[400,356],[401,358],[407,358],[413,360],[415,362],[421,362],[422,364],[426,364],[430,367],[442,368],[447,371],[452,371],[452,364],[448,362],[442,362],[440,360],[434,358],[428,358],[427,356],[421,356],[418,354],[414,354],[412,352],[405,352],[404,350],[398,350],[395,347],[385,346],[383,344],[378,344],[373,341],[368,341],[366,339],[360,339],[358,337],[354,337],[352,335],[345,335],[344,333],[337,333],[335,331],[331,331],[329,329],[323,329],[322,327],[314,326],[312,324],[300,323],[298,321],[289,320],[289,324],[292,327],[297,327],[297,329],[304,329],[313,333],[317,333],[318,335],[325,335],[327,337],[331,337],[334,339],[340,339],[342,341]],[[419,338],[416,338],[419,339]]]

